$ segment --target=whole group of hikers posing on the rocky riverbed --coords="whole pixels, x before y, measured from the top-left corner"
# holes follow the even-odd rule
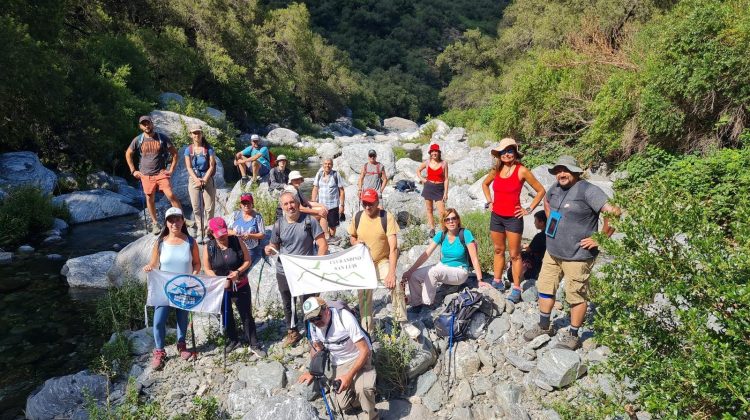
[[[167,210],[165,225],[153,230],[158,232],[152,258],[145,271],[160,268],[175,273],[225,276],[225,308],[234,302],[242,321],[242,334],[236,331],[233,316],[226,321],[227,349],[249,346],[251,352],[260,357],[265,352],[256,337],[256,326],[252,314],[250,287],[247,272],[264,258],[262,254],[325,255],[329,244],[338,243],[336,228],[344,218],[344,180],[333,170],[333,161],[323,161],[321,170],[314,178],[310,200],[300,191],[304,178],[298,171],[290,171],[287,159],[279,155],[275,167],[271,167],[271,156],[266,147],[260,146],[260,138],[253,135],[251,146],[237,153],[235,164],[239,166],[244,181],[256,182],[267,176],[269,188],[278,192],[279,208],[277,220],[271,229],[269,243],[261,246],[265,225],[260,213],[253,209],[254,198],[250,193],[240,196],[240,210],[228,226],[223,218],[213,217],[215,188],[213,175],[216,170],[215,155],[203,138],[200,127],[190,127],[192,144],[185,151],[185,163],[190,174],[190,197],[193,209],[199,208],[199,194],[206,205],[203,210],[209,215],[207,226],[198,225],[196,230],[205,232],[203,252],[199,253],[197,241],[187,231],[187,219],[169,188],[169,177],[173,173],[177,151],[166,136],[156,133],[148,116],[139,120],[143,134],[136,137],[126,152],[127,162],[133,176],[140,179],[152,220],[156,219],[153,194],[158,189],[172,203]],[[132,156],[140,154],[138,170]],[[396,264],[399,256],[397,234],[399,226],[393,213],[383,207],[382,193],[388,182],[384,165],[377,161],[377,153],[370,150],[368,161],[362,168],[358,180],[358,199],[362,210],[355,212],[348,226],[352,245],[367,246],[375,266],[378,282],[390,290],[392,319],[406,322],[407,313],[421,311],[424,307],[435,308],[439,284],[462,285],[467,282],[473,268],[479,287],[505,289],[503,272],[506,270],[505,253],[510,257],[510,269],[506,275],[510,280],[507,299],[513,303],[521,300],[521,280],[537,278],[539,322],[524,333],[531,341],[540,335],[554,335],[550,315],[560,281],[565,278],[565,299],[570,305],[570,327],[560,334],[557,346],[575,350],[579,346],[578,331],[587,309],[589,277],[598,255],[598,244],[593,235],[598,231],[599,217],[605,213],[603,232],[611,236],[613,227],[609,217],[618,217],[620,209],[608,203],[608,197],[599,187],[581,178],[583,169],[571,156],[561,156],[549,169],[556,182],[545,190],[531,170],[521,163],[522,153],[514,139],[505,138],[492,149],[495,164],[482,183],[486,208],[491,211],[490,239],[493,244],[492,280],[483,281],[479,263],[477,238],[463,227],[461,216],[454,208],[446,208],[448,198],[448,164],[442,159],[438,144],[429,146],[429,159],[417,169],[417,177],[423,184],[422,197],[430,242],[427,249],[398,279]],[[167,155],[172,164],[167,169]],[[536,192],[527,207],[521,205],[521,193],[525,183]],[[194,199],[195,198],[195,199]],[[433,216],[437,207],[439,225]],[[542,206],[543,210],[534,212]],[[202,207],[202,206],[200,206]],[[521,238],[524,216],[533,214],[539,233],[524,249]],[[199,214],[194,220],[202,219]],[[430,255],[440,248],[437,264],[422,266]],[[202,254],[202,259],[199,258]],[[292,295],[281,261],[276,263],[276,281],[284,309],[287,334],[284,346],[293,346],[303,335],[303,323],[297,322],[293,313]],[[406,286],[408,285],[408,296]],[[375,379],[372,363],[371,334],[373,323],[373,291],[358,290],[358,317],[334,302],[316,295],[302,296],[302,319],[307,325],[311,341],[311,356],[325,350],[330,355],[333,375],[336,378],[336,401],[341,407],[358,406],[368,418],[376,418]],[[407,311],[407,306],[410,308]],[[231,312],[231,308],[229,308]],[[177,312],[177,350],[182,358],[191,353],[185,345],[187,314]],[[154,338],[156,342],[152,366],[164,365],[166,352],[164,331],[167,307],[157,307],[154,312]],[[225,312],[226,313],[226,312]],[[310,382],[309,372],[300,377],[300,382]]]

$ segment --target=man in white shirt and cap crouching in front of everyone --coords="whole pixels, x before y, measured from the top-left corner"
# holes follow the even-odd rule
[[[302,305],[305,321],[310,321],[310,357],[327,348],[333,377],[341,381],[334,395],[341,410],[362,408],[368,419],[378,418],[375,409],[375,369],[372,367],[372,343],[357,319],[347,310],[329,307],[320,297],[308,298]],[[313,376],[305,372],[299,383],[309,384]]]

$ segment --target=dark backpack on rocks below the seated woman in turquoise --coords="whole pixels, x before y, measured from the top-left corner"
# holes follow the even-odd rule
[[[468,287],[456,296],[435,320],[435,332],[449,341],[460,341],[468,336],[469,325],[475,313],[487,315],[489,322],[495,314],[495,306],[490,298]]]

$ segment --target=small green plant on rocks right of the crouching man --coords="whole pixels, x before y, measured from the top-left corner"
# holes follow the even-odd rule
[[[394,323],[390,332],[377,327],[374,340],[380,344],[374,356],[378,393],[386,398],[403,394],[408,385],[406,371],[416,350],[411,339]]]

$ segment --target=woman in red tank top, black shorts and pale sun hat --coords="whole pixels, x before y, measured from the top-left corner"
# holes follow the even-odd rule
[[[518,151],[518,144],[511,138],[504,138],[500,146],[492,150],[497,164],[484,178],[482,189],[487,199],[487,207],[492,208],[490,215],[490,235],[494,245],[493,259],[494,283],[502,284],[502,272],[505,268],[505,240],[508,240],[508,252],[513,267],[513,287],[508,300],[518,303],[521,300],[521,236],[523,235],[523,217],[532,213],[542,201],[546,191],[534,174],[521,164],[523,155]],[[521,207],[521,191],[524,182],[536,191],[536,196],[529,207]],[[492,184],[492,195],[490,195]],[[481,283],[481,282],[480,282]],[[482,285],[484,283],[481,283]],[[504,285],[503,285],[504,288]]]

